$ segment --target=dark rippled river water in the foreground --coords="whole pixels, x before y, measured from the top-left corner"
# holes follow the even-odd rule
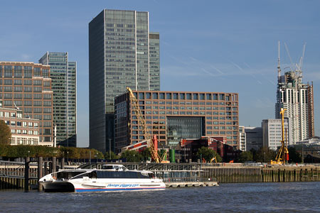
[[[0,191],[0,212],[320,212],[320,182],[221,184],[161,191]]]

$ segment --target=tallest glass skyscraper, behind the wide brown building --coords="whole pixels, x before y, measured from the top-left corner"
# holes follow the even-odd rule
[[[149,12],[104,9],[89,23],[90,148],[114,150],[114,97],[159,89],[157,48]]]

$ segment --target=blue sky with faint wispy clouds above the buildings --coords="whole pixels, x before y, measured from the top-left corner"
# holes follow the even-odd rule
[[[320,136],[320,1],[1,1],[0,60],[78,62],[78,146],[89,145],[88,23],[102,9],[149,11],[160,33],[161,90],[238,92],[240,125],[274,118],[277,41],[282,70],[304,55]]]

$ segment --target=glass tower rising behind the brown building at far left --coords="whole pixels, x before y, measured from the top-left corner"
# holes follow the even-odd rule
[[[53,122],[57,128],[57,144],[77,146],[77,63],[68,53],[47,52],[39,60],[50,65],[53,89]]]

